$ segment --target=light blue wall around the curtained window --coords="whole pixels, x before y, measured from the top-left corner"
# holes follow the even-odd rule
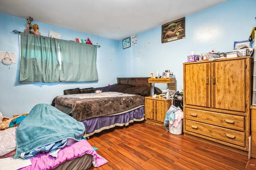
[[[0,112],[3,115],[12,117],[15,114],[26,113],[36,104],[36,100],[38,103],[51,104],[52,99],[55,96],[62,95],[65,89],[102,87],[116,83],[116,77],[120,76],[118,41],[32,21],[32,24],[34,23],[38,24],[39,31],[43,36],[49,36],[51,30],[60,33],[61,38],[65,40],[87,39],[89,37],[93,44],[98,43],[100,48],[97,49],[96,64],[99,81],[52,84],[20,83],[19,35],[12,31],[16,29],[23,32],[26,29],[26,18],[0,14],[0,51],[16,53],[17,61],[10,65],[10,70],[6,65],[0,63]]]

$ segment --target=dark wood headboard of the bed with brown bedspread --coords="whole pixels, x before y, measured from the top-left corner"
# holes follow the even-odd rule
[[[132,87],[148,87],[150,90],[150,83],[148,83],[150,77],[126,77],[117,78],[117,84],[128,84]],[[149,91],[150,92],[150,91]]]

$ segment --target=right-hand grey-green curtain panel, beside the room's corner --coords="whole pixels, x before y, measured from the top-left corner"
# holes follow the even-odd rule
[[[59,45],[62,55],[60,81],[98,81],[96,45],[65,40],[59,41]]]

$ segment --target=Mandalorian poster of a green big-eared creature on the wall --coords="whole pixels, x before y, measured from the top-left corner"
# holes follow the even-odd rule
[[[185,18],[162,25],[162,43],[167,43],[185,37]]]

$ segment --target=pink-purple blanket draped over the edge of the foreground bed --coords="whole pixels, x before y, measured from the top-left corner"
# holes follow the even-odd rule
[[[49,153],[42,153],[31,158],[32,165],[20,168],[19,170],[50,170],[56,168],[66,160],[71,160],[84,154],[91,154],[92,164],[94,167],[99,167],[106,164],[108,161],[98,155],[88,141],[82,139],[80,142],[66,146],[58,152],[58,157],[55,159]]]

